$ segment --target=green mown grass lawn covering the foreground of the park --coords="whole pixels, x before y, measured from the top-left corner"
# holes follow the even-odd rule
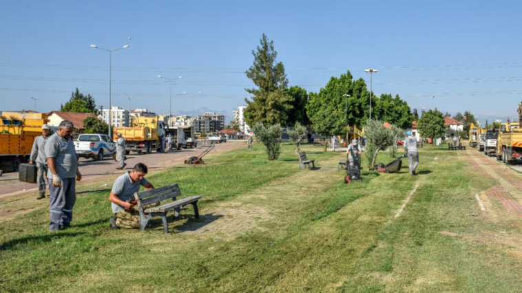
[[[48,206],[0,223],[0,289],[520,292],[520,256],[485,240],[519,239],[520,220],[481,214],[474,194],[496,183],[459,153],[425,147],[417,176],[364,166],[362,182],[344,184],[344,153],[304,145],[317,169],[299,171],[291,145],[273,162],[255,147],[150,174],[155,186],[177,182],[203,198],[200,219],[185,208],[167,235],[158,219],[145,232],[109,228],[110,186],[96,184],[79,190],[72,228],[48,234]]]

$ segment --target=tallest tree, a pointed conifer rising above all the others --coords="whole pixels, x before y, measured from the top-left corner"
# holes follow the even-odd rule
[[[276,63],[273,41],[263,34],[257,52],[252,51],[253,65],[245,72],[257,88],[245,89],[252,94],[252,100],[245,98],[247,108],[244,119],[249,125],[286,123],[293,110],[292,97],[286,94],[288,79],[282,62]]]

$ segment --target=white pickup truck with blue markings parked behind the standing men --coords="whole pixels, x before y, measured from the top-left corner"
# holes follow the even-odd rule
[[[116,142],[106,134],[81,134],[74,142],[74,150],[80,158],[102,161],[116,152]]]

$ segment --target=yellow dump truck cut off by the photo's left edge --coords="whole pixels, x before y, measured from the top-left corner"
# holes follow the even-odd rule
[[[29,162],[32,144],[42,135],[44,113],[3,112],[0,119],[0,176],[3,171],[19,171]]]

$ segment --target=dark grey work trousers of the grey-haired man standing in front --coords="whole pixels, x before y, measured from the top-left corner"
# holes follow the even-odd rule
[[[51,193],[51,222],[50,230],[60,230],[72,221],[72,207],[76,202],[76,178],[62,178],[61,186],[52,186],[49,180]]]

